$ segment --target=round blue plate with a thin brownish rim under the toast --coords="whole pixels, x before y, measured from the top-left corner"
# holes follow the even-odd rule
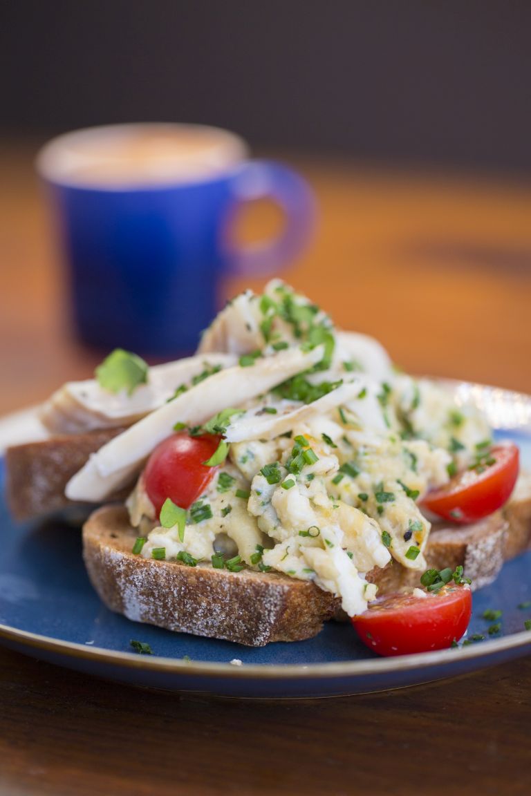
[[[531,467],[531,398],[456,384],[458,396],[482,406],[498,435],[515,439]],[[474,394],[475,390],[475,394]],[[459,392],[461,391],[461,392]],[[490,397],[489,397],[490,396]],[[0,459],[3,493],[4,465]],[[349,625],[328,623],[306,642],[260,649],[170,633],[115,615],[92,590],[81,559],[79,530],[62,521],[14,525],[0,502],[0,640],[22,653],[100,677],[172,691],[240,697],[314,697],[396,689],[453,677],[531,652],[524,620],[531,608],[531,553],[510,561],[474,594],[469,636],[486,634],[486,608],[503,611],[497,638],[459,649],[378,658]],[[131,639],[153,655],[131,652]],[[239,659],[241,665],[230,661]]]

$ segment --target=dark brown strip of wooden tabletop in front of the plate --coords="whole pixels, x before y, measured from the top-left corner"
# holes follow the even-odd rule
[[[531,659],[387,693],[180,698],[0,657],[2,792],[527,794]]]

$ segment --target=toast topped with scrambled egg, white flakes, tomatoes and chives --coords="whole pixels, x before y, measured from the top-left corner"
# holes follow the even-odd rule
[[[497,511],[516,447],[494,447],[474,406],[396,372],[377,341],[335,330],[279,281],[230,303],[184,365],[152,377],[127,357],[49,402],[64,458],[84,446],[49,493],[16,494],[24,458],[45,458],[57,438],[8,454],[18,517],[133,486],[127,512],[100,509],[84,528],[112,610],[252,645],[296,640],[418,587],[428,568],[463,567],[481,586],[529,543],[525,487]],[[426,503],[455,523],[432,528]]]

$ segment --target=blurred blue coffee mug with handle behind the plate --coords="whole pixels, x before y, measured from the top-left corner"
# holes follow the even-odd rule
[[[112,161],[131,137],[149,139],[161,129],[175,133],[177,144],[185,134],[180,165],[162,158],[146,177],[127,157]],[[190,144],[201,135],[217,141],[210,161],[201,146]],[[220,309],[227,276],[279,271],[299,255],[314,224],[314,197],[299,174],[276,162],[248,160],[244,142],[216,128],[146,124],[76,131],[47,144],[37,170],[57,211],[76,332],[99,349],[120,346],[153,357],[193,351]],[[265,244],[236,248],[229,236],[235,212],[262,198],[283,210],[283,232]]]

